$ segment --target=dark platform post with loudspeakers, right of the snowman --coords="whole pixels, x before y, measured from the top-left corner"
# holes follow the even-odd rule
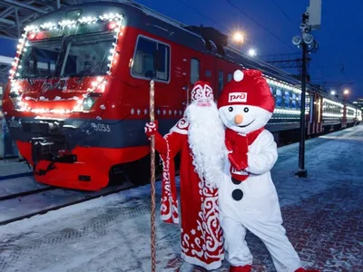
[[[318,43],[310,34],[312,29],[319,28],[319,12],[321,0],[310,0],[308,11],[302,15],[300,24],[301,35],[292,38],[292,44],[301,47],[302,51],[302,71],[301,71],[301,113],[300,113],[300,139],[299,139],[299,170],[295,173],[299,178],[308,177],[308,170],[305,169],[305,103],[306,103],[306,83],[307,83],[307,54],[318,49]],[[318,10],[318,15],[317,15]],[[312,14],[312,18],[309,14]],[[313,111],[310,109],[310,114]]]

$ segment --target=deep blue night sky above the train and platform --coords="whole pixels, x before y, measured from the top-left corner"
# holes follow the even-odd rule
[[[231,0],[231,4],[228,0],[137,2],[183,24],[212,26],[224,34],[240,29],[246,35],[240,49],[248,52],[253,47],[262,60],[270,54],[300,53],[291,39],[299,34],[301,15],[309,5],[309,0]],[[321,27],[312,33],[319,43],[319,50],[311,55],[311,82],[354,83],[343,86],[351,90],[349,100],[363,97],[360,68],[363,63],[363,1],[322,0],[322,3]],[[0,45],[0,48],[6,46],[2,41]],[[297,73],[294,69],[286,71]]]

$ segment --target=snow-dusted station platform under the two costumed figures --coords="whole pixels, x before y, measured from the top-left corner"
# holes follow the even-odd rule
[[[363,126],[307,141],[306,180],[294,176],[299,144],[279,149],[272,179],[283,226],[307,267],[363,271],[362,143]],[[156,219],[157,271],[175,271],[180,228]],[[260,240],[247,241],[253,271],[275,271]],[[0,270],[150,272],[150,185],[0,227]]]

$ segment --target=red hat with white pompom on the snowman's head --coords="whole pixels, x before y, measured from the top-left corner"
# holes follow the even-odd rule
[[[250,105],[268,112],[275,109],[270,86],[258,70],[236,70],[218,99],[218,109],[224,106]]]

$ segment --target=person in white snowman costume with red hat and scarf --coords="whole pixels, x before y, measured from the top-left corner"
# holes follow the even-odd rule
[[[246,229],[270,251],[278,272],[305,270],[281,226],[282,217],[270,170],[278,159],[277,145],[264,129],[274,111],[270,87],[260,71],[237,70],[218,100],[226,126],[228,179],[220,187],[220,216],[224,248],[231,272],[249,272],[252,264]]]

